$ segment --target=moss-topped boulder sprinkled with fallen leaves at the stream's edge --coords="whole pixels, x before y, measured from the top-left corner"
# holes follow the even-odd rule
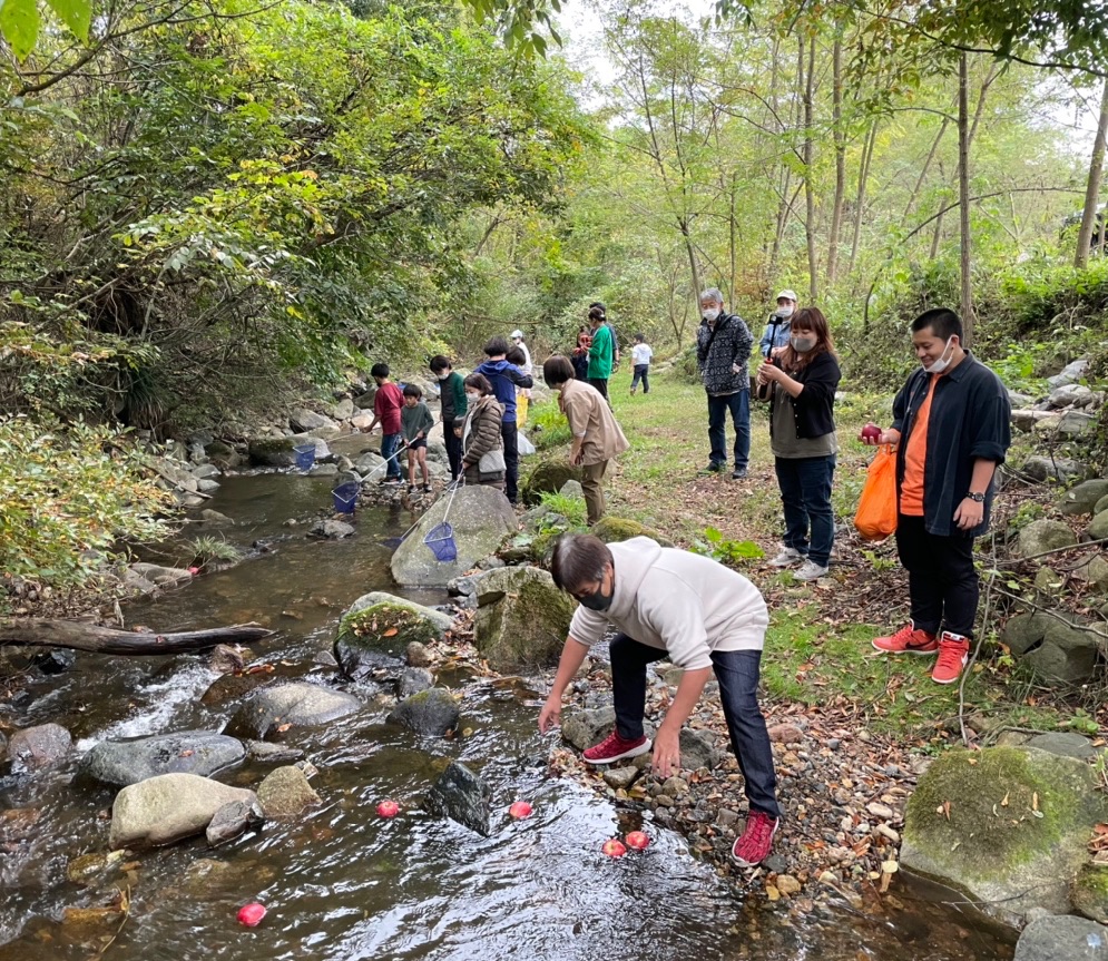
[[[441,611],[373,591],[355,600],[339,622],[335,660],[347,677],[360,680],[381,666],[399,666],[413,641],[441,640],[451,622]]]

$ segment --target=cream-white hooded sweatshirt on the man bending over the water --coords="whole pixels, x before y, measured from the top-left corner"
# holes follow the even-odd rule
[[[714,650],[762,650],[769,612],[758,589],[708,557],[664,548],[648,537],[608,545],[615,568],[611,607],[578,607],[573,640],[604,639],[608,624],[668,651],[686,670],[712,667]]]

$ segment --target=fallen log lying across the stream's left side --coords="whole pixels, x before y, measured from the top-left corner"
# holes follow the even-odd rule
[[[117,630],[78,620],[0,620],[0,644],[70,647],[96,654],[159,655],[206,650],[217,644],[251,644],[273,634],[257,624],[235,624],[176,634]]]

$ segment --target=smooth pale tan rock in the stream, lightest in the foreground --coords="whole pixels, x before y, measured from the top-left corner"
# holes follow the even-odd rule
[[[111,805],[108,844],[112,850],[171,844],[203,834],[225,804],[254,804],[253,791],[229,787],[195,774],[161,774],[125,787]]]

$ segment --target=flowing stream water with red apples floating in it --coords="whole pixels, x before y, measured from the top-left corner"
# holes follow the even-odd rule
[[[237,521],[227,539],[241,547],[261,539],[269,549],[129,605],[129,624],[168,631],[256,620],[276,633],[255,649],[282,673],[330,676],[314,657],[330,648],[339,616],[361,594],[444,600],[391,585],[381,541],[406,528],[404,512],[360,511],[357,535],[340,542],[314,542],[304,527],[282,526],[325,507],[329,490],[327,479],[226,478],[210,506]],[[30,671],[0,710],[18,727],[62,724],[84,752],[106,738],[219,729],[234,704],[200,703],[215,677],[200,655],[81,654],[63,674]],[[373,706],[305,732],[297,746],[318,768],[312,784],[323,804],[214,851],[199,840],[136,856],[122,874],[130,909],[121,929],[118,919],[92,929],[61,921],[67,908],[108,904],[116,890],[66,880],[70,859],[107,850],[112,794],[72,784],[75,763],[0,781],[0,815],[20,808],[8,812],[0,844],[0,961],[1011,958],[1009,934],[929,903],[929,892],[902,881],[896,893],[906,908],[891,916],[845,904],[816,905],[803,921],[775,912],[764,895],[732,890],[679,835],[549,776],[553,739],[535,727],[537,712],[524,700],[532,694],[440,680],[464,690],[470,735],[420,739],[385,725]],[[488,839],[423,814],[421,797],[453,758],[480,769],[496,811],[526,798],[535,814],[521,822],[494,815]],[[220,779],[256,786],[267,769],[245,766]],[[376,816],[383,797],[400,802],[399,817]],[[653,837],[649,850],[619,861],[601,855],[605,839],[640,825]],[[4,826],[0,820],[0,840]],[[268,914],[246,929],[235,914],[254,900]]]

